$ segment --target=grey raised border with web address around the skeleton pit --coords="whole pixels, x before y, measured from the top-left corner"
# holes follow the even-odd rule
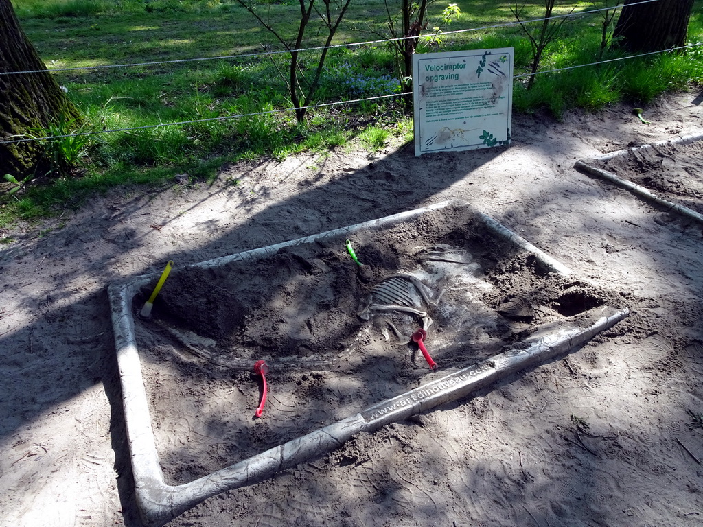
[[[276,253],[284,247],[302,245],[324,238],[346,236],[359,230],[386,228],[403,221],[414,219],[426,212],[442,209],[449,205],[467,207],[474,212],[484,226],[501,238],[509,240],[516,247],[534,254],[548,271],[557,274],[572,274],[569,268],[548,254],[531,245],[527,240],[505,228],[486,214],[477,211],[469,204],[442,202],[385,218],[358,223],[354,226],[330,230],[325,233],[299,238],[289,242],[271,245],[261,249],[223,256],[218,259],[197,263],[195,266],[212,268],[231,261],[261,258]],[[134,331],[132,299],[140,287],[152,282],[158,273],[132,278],[127,282],[108,287],[112,313],[112,326],[115,334],[117,363],[122,384],[122,401],[127,426],[127,441],[131,453],[134,472],[136,501],[143,522],[147,526],[162,526],[179,514],[226,490],[232,490],[259,481],[264,481],[276,472],[295,467],[339,448],[349,438],[362,431],[374,431],[411,415],[425,412],[439,405],[456,401],[467,394],[487,386],[507,375],[538,365],[569,350],[581,346],[595,334],[606,330],[628,314],[626,308],[610,306],[596,308],[579,317],[578,322],[548,328],[537,332],[514,349],[503,351],[479,363],[450,372],[418,388],[382,401],[362,412],[329,424],[266,450],[247,460],[213,472],[190,483],[179,486],[165,482],[160,467],[146,389],[141,373],[141,363]]]

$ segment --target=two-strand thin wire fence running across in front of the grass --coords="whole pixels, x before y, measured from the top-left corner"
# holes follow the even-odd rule
[[[628,4],[628,6],[634,6],[634,5],[639,5],[639,4],[649,4],[651,2],[655,1],[660,1],[660,0],[642,0],[638,1],[633,4]],[[494,25],[488,25],[488,26],[482,26],[482,27],[474,27],[474,28],[467,28],[463,30],[454,30],[454,31],[448,31],[448,32],[443,32],[442,35],[448,35],[448,34],[462,34],[462,33],[467,33],[467,32],[477,32],[477,31],[482,31],[482,30],[491,30],[491,29],[496,29],[496,28],[501,28],[501,27],[511,27],[515,25],[526,25],[530,23],[535,23],[535,22],[544,22],[546,20],[557,20],[557,19],[563,19],[563,18],[569,18],[569,17],[581,17],[581,16],[586,16],[586,15],[591,15],[593,13],[599,13],[602,11],[612,11],[613,9],[621,8],[621,4],[617,4],[615,6],[610,6],[606,8],[598,8],[598,9],[591,9],[588,11],[581,11],[579,13],[568,13],[565,15],[554,15],[552,17],[546,17],[546,18],[534,18],[531,20],[524,20],[522,22],[505,22],[501,24],[494,24]],[[426,35],[420,35],[420,38],[433,38],[436,37],[437,34],[426,34]],[[401,37],[397,39],[380,39],[380,40],[375,40],[375,41],[364,41],[364,42],[356,42],[356,43],[351,43],[351,44],[336,44],[333,46],[317,46],[317,47],[311,47],[311,48],[300,48],[295,51],[302,53],[304,51],[320,51],[325,48],[327,49],[332,49],[332,48],[340,48],[340,47],[346,47],[349,48],[350,46],[365,46],[365,45],[373,45],[373,44],[385,44],[389,42],[394,42],[394,41],[403,41],[406,39],[412,39],[412,38],[417,38],[417,37]],[[626,57],[619,57],[619,58],[613,58],[613,59],[607,59],[607,60],[598,60],[592,63],[586,63],[586,64],[579,64],[579,65],[572,65],[572,66],[567,66],[567,67],[560,67],[560,68],[555,68],[552,70],[542,70],[538,71],[535,74],[546,74],[546,73],[554,73],[554,72],[563,72],[566,70],[574,70],[576,68],[580,67],[591,67],[595,65],[602,65],[605,63],[613,63],[621,60],[631,60],[634,58],[639,58],[643,56],[652,56],[656,55],[659,53],[669,53],[671,51],[679,51],[683,50],[686,48],[693,48],[697,46],[703,46],[703,43],[697,43],[697,44],[689,44],[687,46],[679,46],[676,48],[669,48],[665,49],[662,51],[652,51],[649,53],[638,53],[636,55],[631,55],[631,56],[626,56]],[[176,64],[176,63],[192,63],[192,62],[198,62],[198,61],[203,61],[203,60],[230,60],[230,59],[238,59],[238,58],[257,58],[257,57],[262,57],[262,56],[273,56],[273,55],[280,55],[283,53],[290,53],[291,50],[281,50],[281,51],[264,51],[264,52],[258,52],[258,53],[241,53],[238,55],[229,55],[229,56],[217,56],[217,57],[205,57],[205,58],[186,58],[186,59],[177,59],[177,60],[159,60],[159,61],[153,61],[153,62],[143,62],[143,63],[127,63],[127,64],[110,64],[110,65],[94,65],[94,66],[82,66],[82,67],[68,67],[68,68],[56,68],[52,70],[27,70],[23,72],[0,72],[0,75],[12,75],[12,74],[33,74],[33,73],[46,73],[46,72],[70,72],[70,71],[77,71],[77,70],[100,70],[100,69],[105,69],[105,68],[117,68],[117,67],[138,67],[138,66],[151,66],[151,65],[164,65],[164,64]],[[513,79],[521,79],[524,77],[531,77],[531,73],[525,73],[525,74],[516,74],[513,75]],[[402,93],[390,93],[390,94],[385,94],[385,95],[380,95],[380,96],[373,96],[373,97],[366,97],[366,98],[357,98],[357,99],[352,99],[352,100],[340,100],[340,101],[335,101],[331,103],[318,103],[315,105],[307,105],[307,106],[302,106],[299,108],[279,108],[276,110],[266,110],[262,112],[250,112],[250,113],[242,113],[242,114],[233,114],[233,115],[222,115],[218,117],[208,117],[204,119],[189,119],[186,121],[177,121],[177,122],[168,122],[168,123],[157,123],[157,124],[148,124],[148,125],[143,125],[143,126],[129,126],[125,128],[116,128],[116,129],[105,129],[105,130],[91,130],[91,131],[82,131],[82,132],[77,132],[74,134],[65,134],[65,135],[55,135],[55,136],[45,136],[45,137],[32,137],[32,138],[19,138],[19,139],[14,139],[11,141],[0,141],[0,144],[16,144],[16,143],[27,143],[30,141],[46,141],[50,139],[61,139],[61,138],[69,138],[69,137],[77,137],[77,136],[95,136],[99,134],[110,134],[110,133],[116,133],[116,132],[131,132],[131,131],[138,131],[138,130],[145,130],[145,129],[156,129],[156,128],[162,128],[164,126],[183,126],[187,124],[198,124],[198,123],[205,123],[205,122],[217,122],[217,121],[226,121],[229,119],[240,119],[243,117],[256,117],[259,115],[271,115],[271,114],[280,114],[284,112],[293,112],[295,110],[314,110],[316,108],[329,108],[329,107],[334,107],[334,106],[340,106],[340,105],[354,105],[354,104],[359,104],[363,102],[370,102],[373,100],[383,100],[383,99],[389,99],[389,98],[399,98],[399,97],[404,97],[411,95],[411,91],[405,91]]]

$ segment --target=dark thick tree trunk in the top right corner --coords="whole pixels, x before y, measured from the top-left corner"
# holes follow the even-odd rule
[[[685,46],[693,0],[659,0],[629,6],[626,0],[613,34],[613,46],[628,51],[662,51]]]

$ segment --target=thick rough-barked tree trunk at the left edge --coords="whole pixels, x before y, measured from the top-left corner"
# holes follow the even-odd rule
[[[3,74],[46,70],[37,51],[22,31],[10,0],[0,0],[0,178],[19,178],[32,171],[41,157],[35,141],[4,144],[34,127],[46,128],[52,119],[79,114],[48,72]]]

